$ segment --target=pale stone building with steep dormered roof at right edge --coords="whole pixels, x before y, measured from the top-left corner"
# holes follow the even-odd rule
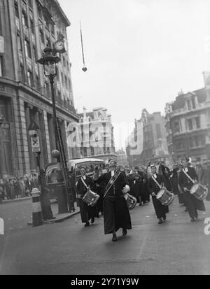
[[[175,101],[165,106],[168,148],[174,162],[186,156],[193,162],[210,159],[210,83],[207,79],[204,73],[205,87],[180,92]]]

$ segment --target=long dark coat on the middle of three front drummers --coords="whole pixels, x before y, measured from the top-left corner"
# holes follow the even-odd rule
[[[157,174],[156,181],[158,181],[160,185],[165,185],[165,180],[160,174]],[[165,217],[165,214],[169,213],[169,207],[163,205],[158,199],[156,199],[156,195],[160,191],[160,188],[158,187],[157,183],[153,181],[152,177],[148,179],[148,191],[150,192],[150,194],[152,194],[153,192],[155,193],[155,196],[152,196],[152,198],[157,218],[160,219],[162,217]]]

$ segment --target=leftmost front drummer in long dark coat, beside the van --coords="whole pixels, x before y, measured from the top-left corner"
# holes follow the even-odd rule
[[[80,169],[81,177],[78,179],[78,182],[76,184],[76,192],[78,195],[78,205],[80,207],[80,216],[82,223],[85,223],[85,227],[90,226],[90,223],[94,223],[94,218],[99,218],[99,214],[97,213],[96,206],[88,206],[84,201],[83,197],[85,193],[87,192],[87,188],[90,188],[90,190],[94,190],[94,183],[92,181],[92,178],[86,175],[86,169],[85,167],[82,167]],[[91,220],[89,222],[89,220]]]

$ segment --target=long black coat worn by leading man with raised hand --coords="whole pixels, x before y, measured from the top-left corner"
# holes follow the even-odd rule
[[[105,186],[109,183],[111,171],[99,176],[95,183],[104,182]],[[127,202],[123,197],[122,189],[127,185],[125,175],[120,173],[116,182],[104,197],[104,234],[111,234],[114,230],[120,228],[132,229],[130,212],[127,207]]]

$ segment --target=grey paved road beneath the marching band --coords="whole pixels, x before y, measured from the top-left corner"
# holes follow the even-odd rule
[[[76,215],[63,223],[8,230],[0,236],[0,274],[210,274],[207,212],[190,222],[177,198],[167,223],[158,225],[153,205],[131,212],[132,230],[118,241],[104,235],[102,217],[83,227]]]

